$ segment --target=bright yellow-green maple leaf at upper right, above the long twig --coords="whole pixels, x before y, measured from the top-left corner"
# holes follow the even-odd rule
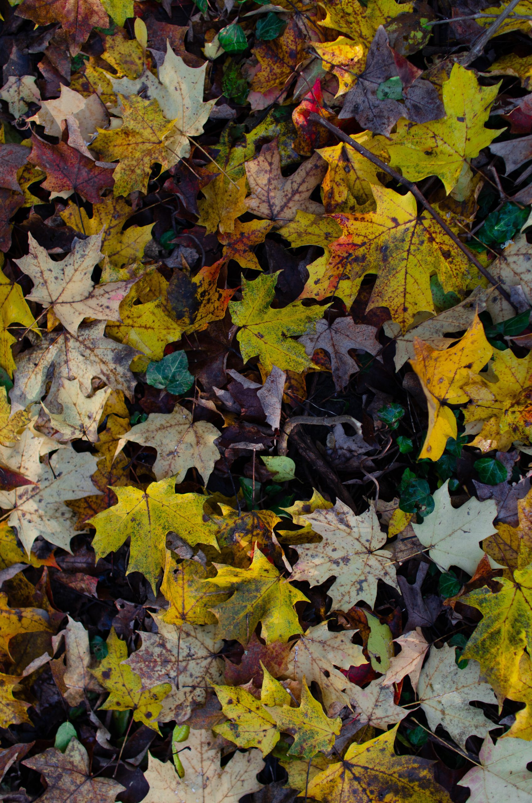
[[[455,64],[444,83],[444,119],[419,124],[399,120],[387,145],[391,166],[411,181],[438,176],[449,194],[464,165],[498,136],[484,124],[499,86],[481,87],[473,70]]]

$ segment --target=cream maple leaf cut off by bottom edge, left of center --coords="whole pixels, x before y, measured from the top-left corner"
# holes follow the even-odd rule
[[[163,764],[149,755],[144,776],[149,793],[142,803],[238,803],[244,794],[260,789],[262,784],[256,781],[264,767],[260,752],[235,752],[222,768],[220,752],[213,748],[214,741],[211,731],[191,730],[186,742],[179,744],[183,778],[178,776],[171,760]]]

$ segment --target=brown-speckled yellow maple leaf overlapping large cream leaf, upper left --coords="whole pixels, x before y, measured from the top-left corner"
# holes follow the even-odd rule
[[[114,194],[127,195],[133,190],[148,191],[148,179],[157,162],[169,167],[166,141],[174,128],[174,120],[163,116],[157,100],[144,100],[137,95],[118,96],[121,128],[104,131],[98,128],[94,149],[106,161],[120,160],[114,170]]]

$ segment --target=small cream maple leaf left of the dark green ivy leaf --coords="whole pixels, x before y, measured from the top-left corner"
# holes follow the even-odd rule
[[[51,413],[43,405],[50,416],[51,425],[63,433],[63,440],[72,441],[74,438],[96,443],[98,440],[97,428],[101,414],[104,410],[111,388],[96,390],[91,397],[84,396],[80,390],[80,381],[77,379],[61,379],[57,401],[63,405],[62,414]]]

